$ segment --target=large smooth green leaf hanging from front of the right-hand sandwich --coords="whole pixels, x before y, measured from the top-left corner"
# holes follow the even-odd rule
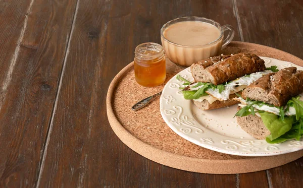
[[[271,133],[267,136],[267,139],[270,141],[273,141],[287,133],[295,122],[295,117],[293,116],[284,117],[284,120],[282,120],[278,115],[269,112],[263,112],[260,113],[260,115],[265,127]]]

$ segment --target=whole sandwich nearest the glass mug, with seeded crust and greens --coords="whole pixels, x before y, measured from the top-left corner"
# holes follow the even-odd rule
[[[202,110],[222,108],[239,103],[232,100],[241,90],[264,75],[276,72],[266,68],[264,60],[252,53],[219,55],[195,62],[190,67],[194,82],[177,76],[186,87],[183,96]]]

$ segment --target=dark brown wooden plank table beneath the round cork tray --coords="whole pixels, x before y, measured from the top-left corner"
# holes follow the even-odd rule
[[[0,1],[0,187],[302,187],[303,158],[247,174],[173,169],[125,146],[106,94],[143,42],[200,16],[303,58],[303,1]]]

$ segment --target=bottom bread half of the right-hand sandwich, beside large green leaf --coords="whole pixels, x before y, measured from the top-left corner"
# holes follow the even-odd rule
[[[237,110],[240,109],[241,107],[238,106]],[[257,115],[237,116],[237,123],[243,131],[256,139],[263,140],[270,135],[270,131],[265,127],[262,118]]]

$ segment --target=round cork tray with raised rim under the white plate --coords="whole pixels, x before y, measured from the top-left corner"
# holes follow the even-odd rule
[[[303,60],[284,51],[246,42],[231,42],[223,54],[251,52],[293,62],[303,67]],[[167,59],[167,78],[185,69]],[[165,83],[166,83],[165,82]],[[159,98],[139,111],[131,107],[137,101],[160,92],[164,84],[146,88],[134,79],[133,62],[113,79],[107,94],[107,114],[119,139],[133,151],[157,163],[200,173],[233,174],[274,168],[303,156],[303,150],[268,157],[243,157],[215,152],[197,146],[174,133],[160,113]]]

